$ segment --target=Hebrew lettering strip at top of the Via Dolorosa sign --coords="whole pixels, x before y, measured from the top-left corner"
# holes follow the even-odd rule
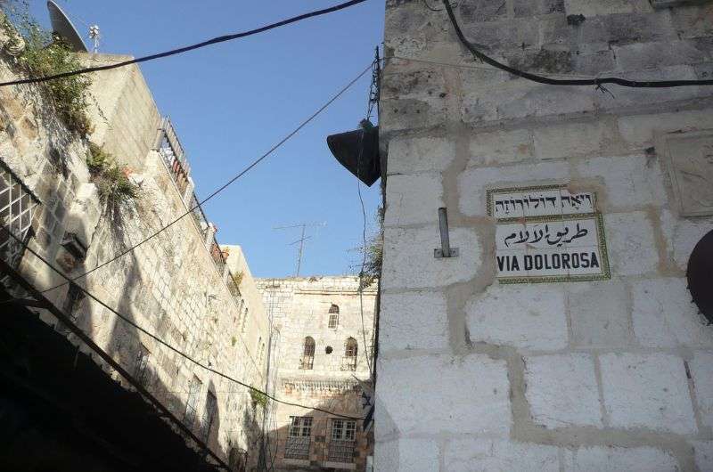
[[[490,191],[488,200],[491,216],[497,219],[589,214],[595,208],[594,193],[570,193],[567,189]]]

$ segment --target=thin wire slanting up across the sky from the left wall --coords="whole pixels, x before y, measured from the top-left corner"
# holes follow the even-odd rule
[[[277,142],[273,147],[271,147],[268,151],[266,151],[262,156],[260,156],[258,159],[255,159],[252,163],[250,163],[250,165],[249,165],[248,167],[245,167],[244,169],[242,169],[242,171],[241,171],[240,173],[238,173],[237,175],[234,175],[233,178],[231,178],[229,181],[227,181],[226,183],[224,183],[223,185],[221,185],[220,187],[218,187],[217,190],[215,190],[215,191],[213,191],[212,193],[210,193],[208,197],[206,197],[205,199],[202,199],[201,201],[197,202],[195,206],[193,206],[192,208],[189,208],[189,209],[188,209],[187,211],[185,211],[181,216],[178,216],[175,220],[173,220],[172,222],[170,222],[170,223],[167,224],[166,226],[163,226],[163,227],[160,228],[157,232],[153,232],[153,233],[152,233],[151,235],[149,235],[147,238],[145,238],[145,239],[143,239],[143,240],[137,242],[135,245],[133,245],[133,246],[131,246],[131,247],[129,247],[129,248],[123,250],[123,251],[120,252],[117,256],[113,256],[113,257],[111,257],[111,259],[108,259],[108,260],[102,262],[102,264],[98,264],[98,265],[97,265],[96,267],[94,267],[93,269],[90,269],[90,270],[86,271],[86,273],[81,273],[81,274],[77,275],[76,277],[73,277],[73,278],[71,278],[71,279],[68,279],[68,281],[61,282],[60,284],[55,285],[54,287],[51,287],[51,288],[49,288],[49,289],[42,290],[40,293],[46,293],[46,292],[51,291],[51,290],[53,290],[53,289],[59,289],[60,287],[62,287],[62,286],[64,286],[64,285],[67,285],[67,283],[70,283],[70,282],[73,282],[73,281],[78,281],[79,279],[81,279],[81,278],[83,278],[83,277],[86,277],[86,275],[88,275],[88,274],[90,274],[90,273],[94,273],[95,271],[101,269],[102,267],[106,266],[107,264],[111,264],[111,263],[114,262],[115,260],[119,259],[119,257],[126,256],[126,255],[129,254],[130,252],[134,251],[135,248],[138,248],[138,247],[142,246],[145,242],[147,242],[147,241],[149,241],[149,240],[152,240],[153,238],[155,238],[156,236],[158,236],[161,232],[164,232],[164,231],[168,230],[168,228],[170,228],[170,227],[173,226],[174,224],[178,223],[178,221],[180,221],[182,218],[184,218],[184,216],[188,216],[188,215],[192,214],[193,211],[195,211],[197,208],[201,208],[203,204],[205,204],[206,202],[208,202],[210,199],[213,199],[213,197],[215,197],[218,193],[220,193],[221,191],[224,191],[228,186],[230,186],[230,185],[231,185],[232,183],[234,183],[236,180],[238,180],[239,178],[241,178],[242,175],[247,174],[247,173],[250,171],[250,169],[252,169],[253,167],[257,166],[262,160],[264,160],[264,159],[266,159],[268,156],[270,156],[270,155],[271,155],[273,152],[275,152],[279,147],[281,147],[285,142],[287,142],[288,140],[290,140],[292,136],[294,136],[295,134],[298,134],[299,131],[300,131],[303,127],[307,126],[307,124],[308,124],[309,122],[311,122],[311,121],[312,121],[313,119],[315,119],[320,113],[322,113],[327,107],[329,107],[329,106],[332,104],[332,102],[335,102],[338,98],[340,98],[340,96],[341,96],[342,94],[344,94],[345,92],[347,92],[347,90],[348,90],[352,85],[356,84],[356,81],[359,80],[361,77],[363,77],[363,76],[365,75],[365,73],[366,73],[368,70],[370,70],[370,69],[372,69],[372,64],[369,64],[364,70],[362,70],[362,71],[359,73],[359,75],[357,75],[355,78],[353,78],[347,85],[344,85],[344,86],[340,89],[340,91],[339,91],[337,94],[332,95],[332,98],[330,98],[327,102],[324,102],[324,105],[322,105],[318,110],[316,110],[314,113],[312,113],[307,119],[303,120],[303,121],[299,124],[299,126],[297,126],[297,127],[296,127],[294,130],[292,130],[289,134],[285,135],[285,136],[283,137],[283,139],[281,139],[279,142]],[[12,302],[13,300],[14,300],[14,298],[13,298],[13,299],[10,299],[10,300],[3,300],[3,301],[0,301],[0,304]]]

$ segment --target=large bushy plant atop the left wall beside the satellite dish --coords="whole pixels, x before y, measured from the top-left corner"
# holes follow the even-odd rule
[[[43,77],[82,68],[77,55],[61,39],[39,26],[29,14],[27,1],[5,0],[0,2],[0,9],[4,12],[2,27],[10,47],[21,50],[16,65],[22,75]],[[53,104],[61,122],[82,137],[92,132],[92,122],[87,115],[90,84],[88,75],[79,75],[37,85]]]

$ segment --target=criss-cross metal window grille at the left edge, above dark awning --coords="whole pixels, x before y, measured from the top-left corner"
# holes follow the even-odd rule
[[[38,203],[32,192],[0,161],[0,254],[5,260],[13,262],[22,252],[22,245],[8,232],[26,242]]]

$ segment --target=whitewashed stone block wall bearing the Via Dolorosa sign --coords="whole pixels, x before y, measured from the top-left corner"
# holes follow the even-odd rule
[[[548,77],[713,70],[710,2],[453,8]],[[713,230],[713,87],[537,84],[473,61],[436,0],[387,2],[384,55],[376,470],[713,470],[713,330],[686,281]],[[434,257],[438,208],[457,255]]]

